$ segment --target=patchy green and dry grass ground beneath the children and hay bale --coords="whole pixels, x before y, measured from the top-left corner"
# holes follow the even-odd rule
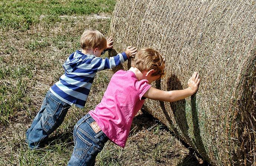
[[[30,151],[25,132],[46,91],[63,74],[63,62],[79,49],[83,30],[95,28],[107,35],[114,4],[112,0],[0,2],[0,165],[67,164],[74,146],[73,127],[101,101],[111,70],[96,74],[85,109],[71,107],[45,148]],[[188,163],[199,165],[189,149],[145,113],[134,118],[124,149],[108,142],[96,159],[96,166]]]

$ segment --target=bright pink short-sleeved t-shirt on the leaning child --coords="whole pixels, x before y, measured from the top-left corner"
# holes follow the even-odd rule
[[[142,96],[150,89],[147,80],[137,80],[132,71],[116,72],[95,110],[89,112],[108,138],[124,148],[134,116],[141,109]]]

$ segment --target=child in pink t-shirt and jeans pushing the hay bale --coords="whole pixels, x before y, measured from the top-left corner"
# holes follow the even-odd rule
[[[119,70],[112,76],[101,103],[74,127],[75,147],[68,165],[94,166],[108,139],[124,148],[132,120],[145,98],[172,102],[196,93],[200,82],[197,72],[188,80],[187,89],[163,91],[151,87],[164,75],[164,65],[158,51],[142,48],[132,58],[128,71]]]

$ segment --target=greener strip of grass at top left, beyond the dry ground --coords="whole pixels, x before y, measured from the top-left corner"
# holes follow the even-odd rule
[[[3,0],[0,2],[0,28],[26,31],[42,19],[56,23],[60,15],[111,13],[114,6],[114,0]]]

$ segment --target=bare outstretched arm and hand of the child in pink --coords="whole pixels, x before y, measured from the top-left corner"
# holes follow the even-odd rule
[[[171,90],[171,91],[163,91],[151,87],[143,97],[150,98],[152,100],[160,100],[160,101],[177,101],[184,99],[188,96],[196,93],[198,86],[200,83],[199,74],[194,72],[192,77],[188,80],[188,88],[183,90]]]

